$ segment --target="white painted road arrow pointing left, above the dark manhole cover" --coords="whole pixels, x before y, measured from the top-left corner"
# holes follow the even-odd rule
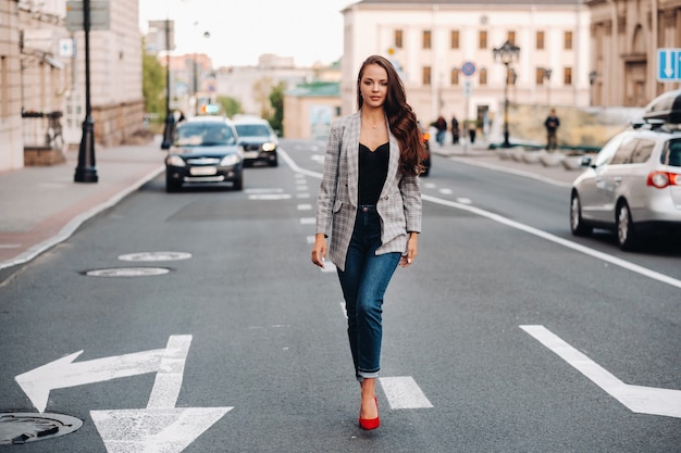
[[[157,349],[72,363],[82,353],[83,351],[78,351],[15,377],[38,412],[45,411],[50,391],[53,389],[157,372],[165,350]]]

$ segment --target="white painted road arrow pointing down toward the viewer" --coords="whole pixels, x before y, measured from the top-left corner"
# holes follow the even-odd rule
[[[146,410],[90,411],[109,453],[178,453],[233,407],[175,407],[191,336],[172,336]]]

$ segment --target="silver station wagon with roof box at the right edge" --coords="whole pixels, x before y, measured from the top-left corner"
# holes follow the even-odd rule
[[[680,95],[681,96],[681,95]],[[644,115],[645,116],[645,115]],[[612,137],[572,184],[570,228],[617,231],[622,250],[648,235],[681,234],[681,129],[665,123],[674,114],[646,119]]]

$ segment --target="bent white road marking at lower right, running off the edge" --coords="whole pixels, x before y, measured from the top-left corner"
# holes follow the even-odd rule
[[[639,414],[681,417],[681,390],[624,383],[544,326],[520,326],[610,397]]]

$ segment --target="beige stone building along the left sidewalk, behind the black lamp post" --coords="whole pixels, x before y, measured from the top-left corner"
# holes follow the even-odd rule
[[[90,32],[90,104],[96,141],[113,146],[143,127],[138,0],[109,1],[108,16]],[[66,0],[0,0],[0,171],[61,162],[81,142],[85,34],[66,18]]]

